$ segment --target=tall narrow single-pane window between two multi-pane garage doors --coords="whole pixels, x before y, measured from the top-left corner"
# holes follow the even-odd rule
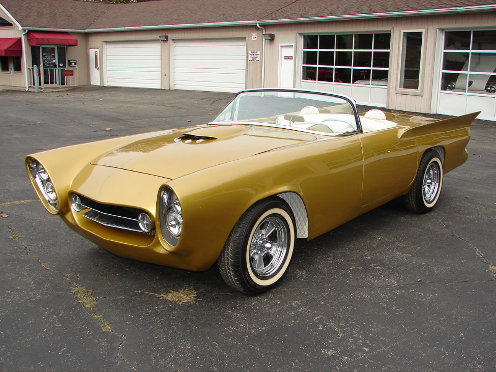
[[[422,61],[423,32],[403,32],[401,47],[400,89],[418,90]]]

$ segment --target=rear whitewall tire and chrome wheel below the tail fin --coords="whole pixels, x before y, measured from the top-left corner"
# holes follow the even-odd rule
[[[434,150],[428,150],[420,161],[417,177],[409,193],[405,195],[406,208],[415,213],[427,213],[434,209],[443,187],[443,162]]]

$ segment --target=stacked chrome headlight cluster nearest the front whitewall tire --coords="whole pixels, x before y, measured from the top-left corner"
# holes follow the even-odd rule
[[[178,244],[183,231],[183,212],[178,196],[168,187],[160,192],[160,226],[167,243]]]

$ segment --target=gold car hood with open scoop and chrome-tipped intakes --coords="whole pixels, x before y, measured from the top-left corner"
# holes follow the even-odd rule
[[[204,125],[131,142],[92,161],[175,179],[200,169],[315,140],[309,133],[251,125]]]

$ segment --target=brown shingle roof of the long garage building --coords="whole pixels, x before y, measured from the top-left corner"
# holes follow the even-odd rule
[[[0,0],[24,28],[102,30],[273,21],[496,5],[496,0],[156,0],[107,4],[81,0]]]

